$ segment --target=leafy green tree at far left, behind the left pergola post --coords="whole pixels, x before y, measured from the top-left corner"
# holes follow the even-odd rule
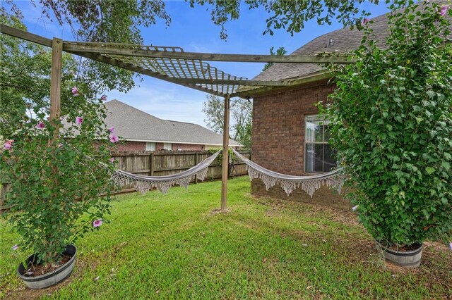
[[[17,18],[0,16],[0,20],[26,29]],[[49,113],[51,55],[47,47],[0,35],[0,94],[4,99],[0,101],[1,135],[11,135],[16,128],[7,125],[9,120],[26,115],[35,106]],[[77,61],[71,54],[64,54],[63,63],[62,85],[69,89],[74,84]]]

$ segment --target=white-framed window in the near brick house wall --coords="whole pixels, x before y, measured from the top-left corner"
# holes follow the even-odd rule
[[[307,173],[328,172],[336,166],[335,152],[328,144],[328,120],[307,115],[304,132],[304,170]]]

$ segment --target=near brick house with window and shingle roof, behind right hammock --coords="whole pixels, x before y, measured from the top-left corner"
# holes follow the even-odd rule
[[[370,25],[380,45],[388,35],[386,15],[373,19]],[[321,35],[297,49],[293,54],[314,55],[316,52],[350,52],[357,49],[362,32],[344,28]],[[292,55],[293,55],[292,54]],[[319,118],[315,104],[327,101],[335,85],[331,76],[318,64],[275,63],[254,80],[295,80],[292,87],[255,88],[243,91],[242,96],[253,98],[253,132],[251,153],[253,161],[278,173],[306,175],[323,173],[335,166],[335,158],[328,145],[328,120]],[[287,199],[276,185],[266,191],[261,180],[253,180],[251,193]],[[349,208],[340,195],[322,187],[313,198],[302,189],[289,197],[299,201]]]

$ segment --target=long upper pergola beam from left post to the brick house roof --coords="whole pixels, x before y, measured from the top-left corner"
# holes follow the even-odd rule
[[[150,58],[177,58],[198,61],[231,61],[242,63],[355,63],[349,56],[338,55],[261,55],[261,54],[213,54],[199,52],[153,51],[147,49],[119,48],[102,44],[64,43],[64,51],[78,53],[109,54]]]

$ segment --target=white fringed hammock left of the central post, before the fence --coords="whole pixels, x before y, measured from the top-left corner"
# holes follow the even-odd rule
[[[205,160],[201,161],[189,170],[174,175],[165,176],[145,176],[136,175],[123,170],[115,170],[112,175],[112,180],[119,187],[133,185],[138,192],[145,194],[152,188],[157,188],[160,192],[166,193],[173,185],[180,185],[181,187],[188,187],[190,181],[195,177],[198,180],[204,180],[207,175],[208,167],[215,158],[217,158],[220,151]]]

